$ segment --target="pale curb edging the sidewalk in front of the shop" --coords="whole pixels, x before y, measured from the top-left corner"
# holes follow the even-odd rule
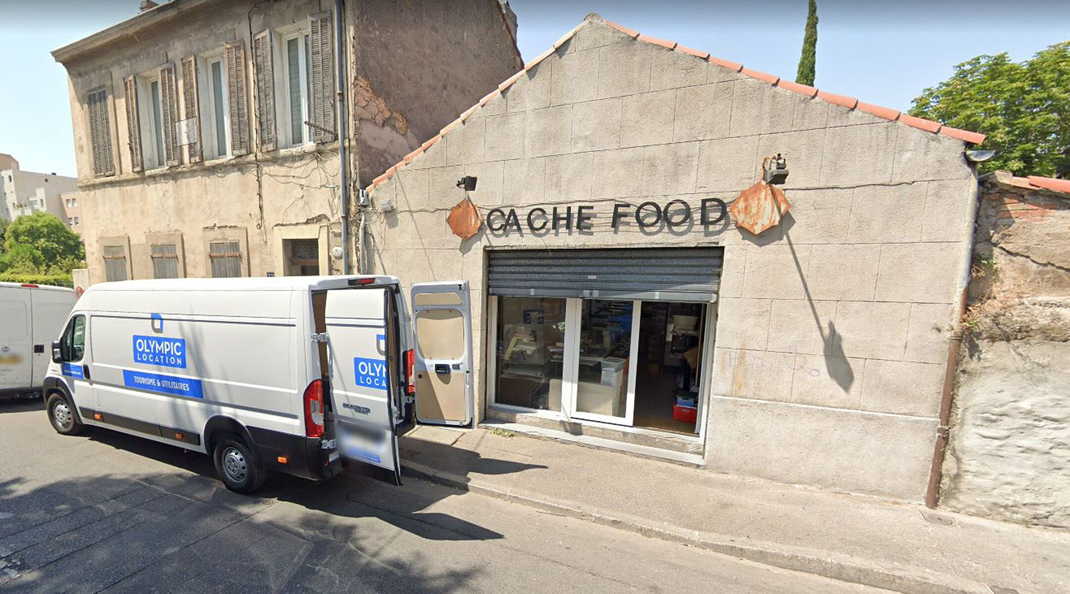
[[[545,501],[534,497],[507,493],[472,483],[464,476],[442,472],[418,463],[402,462],[402,470],[412,476],[431,481],[460,490],[493,497],[565,517],[592,521],[611,528],[636,532],[652,538],[661,538],[704,548],[709,551],[746,559],[783,569],[813,574],[839,581],[881,588],[903,594],[992,594],[982,583],[938,574],[917,567],[878,563],[852,556],[824,550],[805,549],[773,543],[738,543],[729,536],[685,530],[670,526],[654,526],[635,518],[613,517]]]

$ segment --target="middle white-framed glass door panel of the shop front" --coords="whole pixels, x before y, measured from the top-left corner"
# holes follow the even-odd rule
[[[569,299],[569,413],[630,425],[640,301]],[[635,330],[635,331],[633,331]],[[567,348],[567,347],[566,347]]]

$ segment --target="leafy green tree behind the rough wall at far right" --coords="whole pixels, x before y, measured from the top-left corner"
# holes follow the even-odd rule
[[[996,156],[982,172],[1070,177],[1070,42],[1024,62],[1007,52],[967,60],[915,98],[911,115],[984,134]]]

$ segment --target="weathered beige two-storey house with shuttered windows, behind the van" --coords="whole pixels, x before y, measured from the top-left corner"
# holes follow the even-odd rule
[[[328,28],[340,19],[342,28],[347,127],[340,135],[334,124],[338,120],[333,82],[322,92],[332,124],[324,130],[307,123],[316,120],[314,111],[319,108],[314,109],[314,99],[302,93],[317,91],[312,66],[299,64],[314,59],[309,34],[320,26],[314,22],[317,18]],[[478,48],[457,47],[449,27],[461,22],[478,26],[483,41]],[[318,71],[328,73],[328,81],[337,76],[337,52],[332,53],[337,42],[331,31],[321,37],[330,51],[324,50],[328,59]],[[255,58],[261,47],[257,40],[265,35],[270,61]],[[230,47],[238,48],[233,63]],[[465,49],[485,67],[470,72],[452,53]],[[124,267],[125,278],[154,278],[174,270],[180,276],[210,277],[213,257],[227,255],[211,254],[211,246],[231,249],[235,244],[240,266],[217,266],[216,273],[224,268],[242,276],[342,272],[342,187],[349,188],[349,224],[355,229],[357,188],[379,173],[368,173],[368,167],[400,159],[426,140],[424,130],[444,125],[520,64],[513,35],[493,0],[349,2],[340,15],[331,0],[270,4],[175,0],[54,54],[68,73],[91,282],[123,278]],[[184,67],[190,57],[197,68],[194,77]],[[162,66],[174,68],[173,124],[167,120],[167,101],[155,95],[167,92]],[[264,73],[271,76],[263,78]],[[234,77],[241,81],[236,92]],[[192,78],[198,80],[193,93],[187,83]],[[224,87],[218,95],[213,95],[213,84]],[[102,93],[104,108],[91,113],[93,92]],[[361,107],[374,103],[369,94],[380,99],[385,118]],[[307,113],[293,109],[299,101],[307,101]],[[156,129],[172,129],[181,139],[173,156],[162,148],[163,142],[154,143],[156,104],[165,112],[164,124]],[[233,115],[238,105],[245,111]],[[219,118],[219,108],[218,113],[227,115]],[[443,110],[449,115],[440,113]],[[132,114],[138,116],[133,126]],[[199,147],[186,144],[192,137],[182,134],[193,120],[199,123]],[[303,139],[296,131],[302,125]],[[235,135],[241,127],[244,140]],[[330,138],[320,138],[323,131]],[[102,136],[107,137],[104,151]],[[339,136],[349,147],[345,179]],[[246,147],[239,150],[243,142]],[[198,153],[202,158],[195,158]],[[102,154],[111,159],[103,173],[94,168]],[[154,245],[158,246],[155,263]],[[347,249],[355,259],[355,243]],[[112,259],[110,276],[107,259]]]

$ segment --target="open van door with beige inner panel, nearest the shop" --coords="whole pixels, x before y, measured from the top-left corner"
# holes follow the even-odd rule
[[[413,284],[410,302],[416,422],[470,425],[475,419],[475,393],[468,281]]]

